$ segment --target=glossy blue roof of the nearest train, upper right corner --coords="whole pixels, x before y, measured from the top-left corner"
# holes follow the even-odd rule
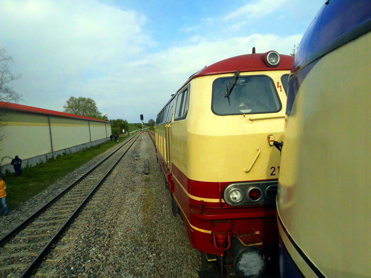
[[[326,1],[300,42],[292,72],[370,30],[370,0]]]

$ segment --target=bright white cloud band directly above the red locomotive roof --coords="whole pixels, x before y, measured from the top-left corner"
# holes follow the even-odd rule
[[[301,37],[253,34],[228,39],[204,39],[196,44],[171,47],[159,53],[144,55],[134,63],[125,64],[125,67],[135,68],[143,74],[129,74],[128,79],[123,82],[130,87],[129,90],[135,91],[137,88],[137,96],[141,95],[141,92],[153,92],[153,101],[159,105],[155,110],[157,113],[170,99],[170,94],[175,93],[190,75],[204,66],[229,57],[252,53],[252,47],[256,47],[258,53],[276,50],[281,54],[290,54],[293,45],[300,41]]]

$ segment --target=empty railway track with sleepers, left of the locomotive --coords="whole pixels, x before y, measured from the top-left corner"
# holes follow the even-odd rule
[[[1,277],[33,274],[139,135],[133,136],[0,239]]]

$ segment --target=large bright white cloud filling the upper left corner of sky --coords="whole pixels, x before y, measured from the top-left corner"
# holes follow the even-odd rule
[[[9,25],[3,35],[32,53],[22,59],[41,62],[48,72],[99,71],[108,59],[126,59],[156,45],[142,33],[145,16],[98,1],[1,1],[0,9]]]

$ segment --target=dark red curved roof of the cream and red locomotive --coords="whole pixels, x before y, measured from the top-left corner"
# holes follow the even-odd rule
[[[280,54],[280,63],[278,64],[278,66],[270,67],[267,66],[266,63],[264,63],[265,56],[267,53],[244,54],[224,59],[214,64],[211,64],[210,66],[205,67],[199,72],[196,72],[194,75],[191,75],[188,78],[187,82],[185,82],[181,88],[183,88],[184,85],[188,84],[188,82],[190,82],[192,79],[199,76],[218,75],[222,73],[234,73],[236,72],[236,70],[240,70],[240,72],[257,72],[262,70],[291,69],[295,57]]]

